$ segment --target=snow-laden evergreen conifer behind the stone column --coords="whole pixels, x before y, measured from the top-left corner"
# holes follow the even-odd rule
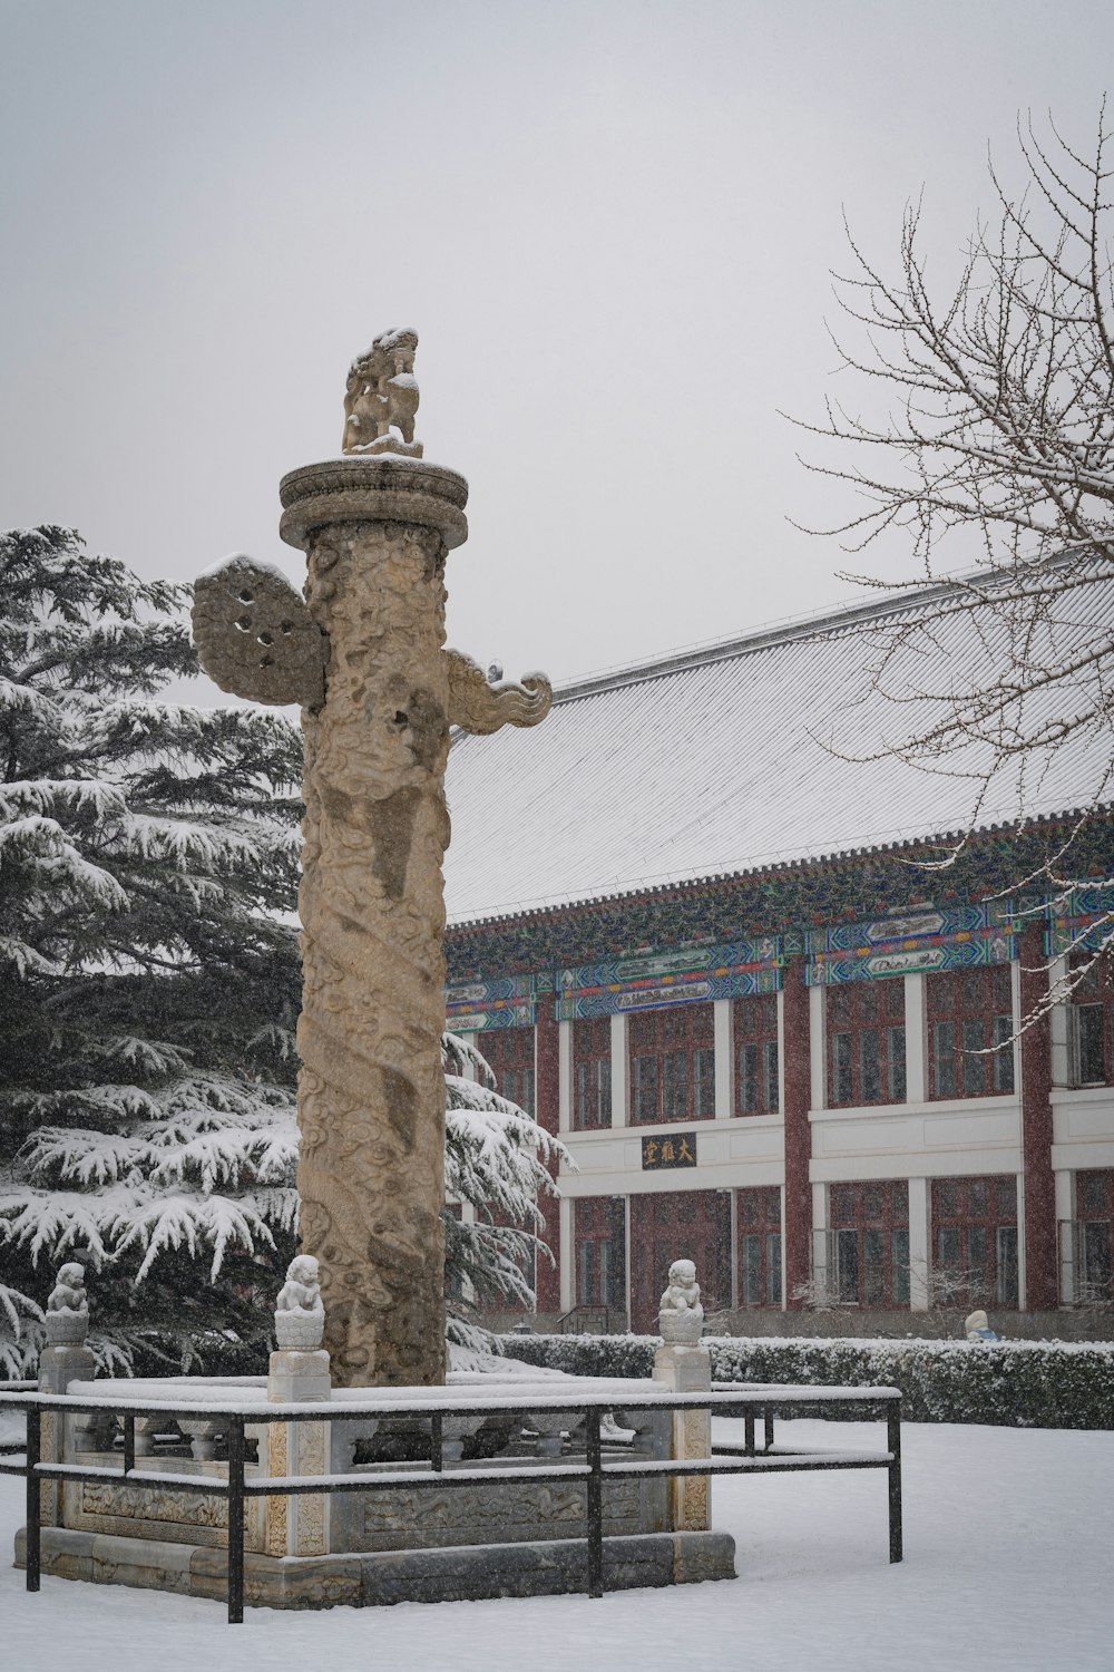
[[[185,590],[68,530],[0,535],[0,1373],[72,1254],[102,1358],[259,1368],[297,1214],[297,732],[152,701],[195,672]],[[444,1055],[449,1291],[529,1304],[553,1140]]]

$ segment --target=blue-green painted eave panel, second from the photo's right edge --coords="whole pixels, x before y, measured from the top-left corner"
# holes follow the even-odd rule
[[[910,911],[873,923],[838,923],[807,935],[808,986],[873,981],[887,975],[970,970],[1009,963],[1024,928],[1004,900]]]

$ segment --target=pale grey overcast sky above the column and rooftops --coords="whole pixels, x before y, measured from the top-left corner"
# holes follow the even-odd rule
[[[471,483],[449,642],[554,681],[848,595],[778,418],[832,388],[843,209],[892,269],[924,186],[944,276],[987,142],[1025,107],[1086,142],[1114,62],[1109,0],[0,0],[0,523],[301,584],[279,477],[414,324],[418,435]]]

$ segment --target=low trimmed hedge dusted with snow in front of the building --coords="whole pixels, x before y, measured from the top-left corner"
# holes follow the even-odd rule
[[[656,1336],[504,1336],[509,1358],[573,1376],[648,1376]],[[892,1386],[912,1423],[1114,1428],[1114,1346],[708,1336],[717,1381]]]

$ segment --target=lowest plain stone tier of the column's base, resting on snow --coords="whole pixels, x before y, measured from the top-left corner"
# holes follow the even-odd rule
[[[23,1530],[15,1565],[25,1565]],[[67,1527],[42,1532],[42,1572],[97,1585],[135,1585],[184,1597],[225,1598],[225,1553],[212,1545],[160,1543]],[[735,1578],[730,1533],[640,1533],[606,1540],[605,1588],[686,1585]],[[583,1543],[531,1540],[449,1550],[264,1557],[247,1552],[244,1597],[264,1608],[382,1607],[396,1602],[478,1602],[558,1597],[588,1588]]]

